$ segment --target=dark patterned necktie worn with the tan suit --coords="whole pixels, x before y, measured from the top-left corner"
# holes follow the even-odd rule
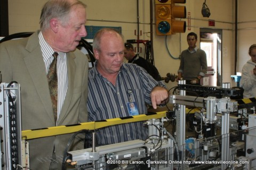
[[[58,111],[58,77],[57,77],[57,59],[58,59],[58,53],[54,52],[54,57],[50,67],[49,71],[47,73],[47,80],[49,84],[49,90],[50,95],[52,99],[52,107],[53,107],[53,114],[54,114],[54,120],[57,122],[57,111]]]

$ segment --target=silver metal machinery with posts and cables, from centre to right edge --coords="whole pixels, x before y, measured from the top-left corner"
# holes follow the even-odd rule
[[[179,82],[179,84],[182,83],[184,82]],[[134,160],[147,165],[147,168],[142,169],[151,170],[255,169],[254,149],[256,148],[253,143],[256,142],[256,133],[252,126],[256,124],[256,116],[253,114],[248,116],[250,129],[244,127],[241,131],[230,133],[230,129],[238,130],[238,126],[245,126],[245,124],[238,123],[241,118],[230,116],[230,113],[237,112],[238,104],[237,101],[231,100],[229,95],[236,94],[237,91],[229,87],[222,87],[218,90],[213,88],[212,90],[217,91],[222,97],[204,98],[186,96],[186,88],[184,84],[183,89],[180,88],[180,95],[170,96],[170,103],[174,104],[173,113],[177,121],[175,138],[161,128],[163,122],[168,121],[167,117],[163,117],[161,121],[153,118],[146,123],[149,125],[149,139],[70,151],[68,162],[78,169],[86,169],[86,166],[91,166],[91,169],[108,169],[108,163],[117,164],[115,169],[133,169],[134,166],[129,167],[129,163],[132,164]],[[207,87],[207,90],[209,89]],[[201,122],[201,131],[198,132],[197,138],[186,139],[186,105],[202,108],[197,113],[197,118]],[[194,123],[196,125],[197,122]],[[219,136],[216,133],[217,127],[221,127]],[[237,138],[241,136],[241,132],[245,132],[242,135],[247,140],[237,139],[237,142],[234,142],[233,133],[237,133]],[[156,147],[154,143],[159,143],[158,137],[161,137],[162,145]],[[193,157],[188,157],[188,153]]]

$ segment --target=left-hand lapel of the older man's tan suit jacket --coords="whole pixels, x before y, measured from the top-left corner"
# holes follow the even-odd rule
[[[35,32],[29,37],[26,49],[30,52],[24,58],[29,74],[34,82],[38,96],[41,99],[47,114],[49,114],[49,117],[52,117],[52,121],[55,122],[49,86],[46,78],[45,65],[38,41],[38,32]]]

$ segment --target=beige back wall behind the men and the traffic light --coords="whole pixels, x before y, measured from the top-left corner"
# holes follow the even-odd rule
[[[137,39],[134,35],[134,30],[137,30],[137,0],[81,0],[87,4],[87,25],[95,26],[116,26],[122,27],[122,33],[125,39]],[[222,47],[225,48],[225,55],[222,56],[223,63],[223,82],[230,82],[231,86],[235,86],[234,80],[231,80],[230,75],[234,75],[235,68],[235,44],[234,44],[234,29],[235,29],[235,0],[209,0],[206,1],[210,8],[210,18],[203,18],[201,14],[202,5],[205,0],[187,0],[187,12],[191,13],[191,30],[198,34],[200,28],[222,29]],[[46,0],[9,0],[9,25],[10,34],[23,31],[35,31],[39,29],[39,15],[41,8]],[[153,1],[154,2],[154,1]],[[245,59],[249,59],[247,49],[254,42],[255,29],[247,30],[244,28],[255,27],[254,0],[238,0],[239,2],[239,31],[238,31],[238,71],[241,70]],[[150,40],[150,6],[149,0],[139,0],[139,21],[142,36],[140,39]],[[181,4],[183,5],[183,4]],[[153,10],[154,12],[154,10]],[[250,16],[250,17],[249,17]],[[155,23],[155,16],[153,17]],[[208,20],[215,20],[215,27],[208,26]],[[188,21],[187,19],[181,19]],[[253,21],[242,23],[244,21]],[[170,57],[165,47],[165,36],[157,36],[154,28],[154,58],[155,65],[162,77],[166,73],[175,73],[179,67],[179,60],[174,60]],[[167,36],[167,47],[174,57],[178,57],[181,50],[188,47],[186,36],[189,33],[188,28],[186,33],[176,33],[175,35]],[[199,42],[197,44],[199,46]],[[141,45],[141,47],[143,47]],[[144,55],[142,49],[141,56]]]

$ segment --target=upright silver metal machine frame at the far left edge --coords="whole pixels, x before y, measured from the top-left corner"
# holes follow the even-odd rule
[[[0,131],[1,152],[0,164],[2,169],[18,169],[23,167],[22,155],[25,150],[25,142],[21,139],[21,108],[20,108],[20,84],[0,84]],[[27,160],[29,161],[29,160]]]

